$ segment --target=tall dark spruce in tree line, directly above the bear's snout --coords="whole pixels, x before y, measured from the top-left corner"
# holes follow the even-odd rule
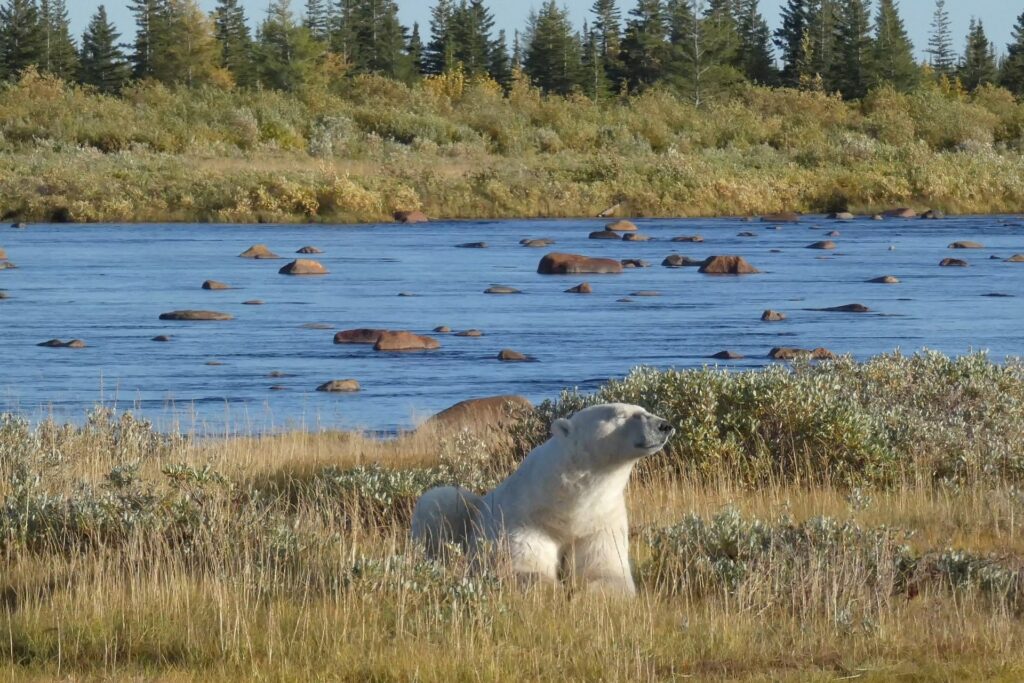
[[[682,4],[687,0],[673,0]],[[662,0],[638,0],[630,10],[623,36],[623,79],[631,90],[642,90],[666,76],[671,58],[669,20]]]

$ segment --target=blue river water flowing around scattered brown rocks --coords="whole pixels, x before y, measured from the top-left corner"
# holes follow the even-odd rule
[[[271,430],[290,427],[394,430],[458,400],[521,393],[554,397],[592,388],[635,366],[693,368],[731,349],[766,365],[773,346],[825,346],[858,358],[923,347],[951,354],[987,349],[1024,354],[1024,263],[990,256],[1024,253],[1024,218],[941,221],[805,218],[772,225],[739,219],[639,220],[647,243],[589,240],[602,220],[435,222],[424,226],[31,225],[0,228],[16,269],[0,270],[0,411],[81,420],[97,402],[133,409],[162,427]],[[804,249],[830,238],[835,252]],[[751,230],[755,238],[738,237]],[[702,244],[670,243],[700,233]],[[552,238],[549,249],[519,246]],[[950,250],[956,240],[985,245]],[[458,249],[484,241],[487,249]],[[238,258],[265,243],[295,258],[305,245],[330,274],[278,274],[286,260]],[[892,247],[893,249],[890,249]],[[777,253],[772,250],[779,250]],[[617,275],[537,273],[548,251],[642,258],[651,267]],[[670,269],[678,252],[695,259],[738,254],[763,270],[741,278]],[[968,268],[941,268],[947,256]],[[895,286],[865,281],[897,275]],[[207,279],[238,289],[204,291]],[[590,282],[591,295],[563,290]],[[485,295],[492,284],[521,295]],[[660,296],[621,298],[640,290]],[[410,292],[413,297],[399,297]],[[988,297],[991,293],[1011,297]],[[242,302],[263,299],[262,306]],[[809,310],[863,303],[870,313]],[[164,311],[231,313],[224,323],[168,323]],[[765,308],[788,319],[762,323]],[[308,329],[326,324],[327,330]],[[438,335],[426,353],[378,353],[336,345],[338,330],[375,327],[430,333],[476,328],[481,338]],[[151,341],[172,335],[169,343]],[[80,338],[85,349],[36,346]],[[513,348],[538,362],[496,359]],[[208,365],[219,362],[222,365]],[[288,377],[270,378],[272,371]],[[354,378],[356,394],[314,388]],[[270,386],[283,385],[283,391]]]

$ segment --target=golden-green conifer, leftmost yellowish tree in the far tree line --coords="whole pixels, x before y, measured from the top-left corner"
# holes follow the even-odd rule
[[[153,76],[188,87],[207,83],[220,66],[220,46],[211,18],[196,0],[168,0],[160,58]]]

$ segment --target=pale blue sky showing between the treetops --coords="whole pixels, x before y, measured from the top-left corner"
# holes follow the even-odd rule
[[[542,0],[492,0],[488,6],[495,14],[498,28],[505,29],[511,35],[513,30],[522,29],[526,22],[529,10],[540,6]],[[80,35],[85,28],[89,16],[100,4],[106,5],[106,11],[117,23],[118,28],[124,35],[124,40],[134,32],[131,14],[125,9],[126,0],[69,0],[68,5],[72,15],[73,28],[76,35]],[[216,0],[200,0],[200,5],[207,9],[212,9]],[[267,0],[243,0],[248,15],[251,20],[259,20],[266,10]],[[419,22],[424,37],[429,33],[430,7],[433,0],[398,0],[398,7],[403,24],[412,26],[414,22]],[[590,18],[590,7],[593,0],[564,0],[564,6],[568,7],[577,24],[582,25],[585,18]],[[774,29],[778,24],[778,8],[782,4],[781,0],[762,0],[761,10],[768,18],[769,24]],[[305,5],[305,0],[292,0],[292,6],[300,11]],[[635,5],[635,0],[620,0],[618,6],[625,15],[629,9]],[[932,12],[935,10],[934,0],[902,0],[900,12],[910,32],[914,47],[919,55],[928,41],[928,29],[932,20]],[[968,24],[972,16],[980,18],[985,24],[985,31],[989,39],[995,42],[996,50],[1000,53],[1006,51],[1006,45],[1010,42],[1010,32],[1013,29],[1017,16],[1024,12],[1024,0],[946,0],[946,8],[952,22],[954,44],[959,51],[964,46],[964,37],[967,35]]]

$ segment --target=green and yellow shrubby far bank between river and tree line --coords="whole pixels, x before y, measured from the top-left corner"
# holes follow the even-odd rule
[[[594,102],[458,74],[339,91],[110,97],[27,74],[0,92],[0,216],[366,222],[433,217],[1024,211],[1024,104],[926,79],[844,102],[749,87],[700,109]]]

